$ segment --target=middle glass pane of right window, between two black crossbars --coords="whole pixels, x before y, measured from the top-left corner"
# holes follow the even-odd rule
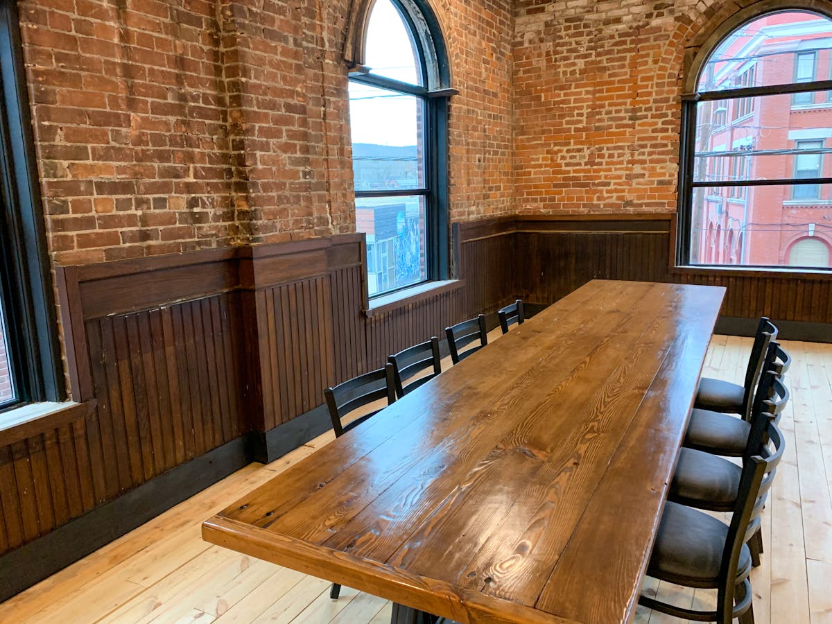
[[[750,102],[754,116],[728,125],[713,121],[721,102],[730,107],[739,99]],[[825,156],[832,154],[830,129],[832,106],[793,113],[789,100],[780,95],[699,102],[693,180],[832,176],[832,156]]]

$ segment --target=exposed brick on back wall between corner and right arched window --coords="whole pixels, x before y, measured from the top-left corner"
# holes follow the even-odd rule
[[[715,4],[515,3],[518,212],[676,210],[683,58]]]

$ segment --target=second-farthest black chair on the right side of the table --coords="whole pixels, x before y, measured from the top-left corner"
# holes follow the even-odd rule
[[[754,402],[751,406],[752,414],[759,414],[762,401],[772,399],[775,394],[783,397],[772,409],[778,409],[775,413],[777,422],[780,422],[780,412],[789,399],[789,390],[783,384],[782,376],[788,372],[791,365],[791,358],[785,350],[776,342],[770,342],[768,353],[763,365],[763,374],[760,375],[760,382],[754,394]],[[761,388],[765,373],[774,371],[778,374],[773,386],[769,390]],[[778,407],[779,406],[779,407]],[[750,433],[750,422],[731,416],[721,414],[710,409],[691,410],[691,419],[688,422],[687,431],[683,445],[687,448],[696,448],[698,451],[724,455],[726,457],[742,457],[745,453]]]

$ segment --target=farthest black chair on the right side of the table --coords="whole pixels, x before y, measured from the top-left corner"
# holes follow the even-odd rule
[[[722,379],[703,377],[696,391],[694,407],[710,409],[723,414],[740,414],[746,420],[751,411],[751,393],[760,379],[766,349],[769,342],[777,338],[777,327],[769,319],[762,317],[757,325],[754,344],[748,365],[745,368],[745,384],[731,384]]]

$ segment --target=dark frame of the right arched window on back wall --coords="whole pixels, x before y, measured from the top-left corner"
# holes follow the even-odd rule
[[[742,188],[743,186],[779,186],[779,185],[804,185],[804,184],[830,184],[832,178],[819,177],[810,180],[800,178],[778,178],[770,180],[745,180],[739,182],[726,181],[721,184],[715,184],[714,181],[694,181],[694,155],[696,152],[696,113],[697,104],[699,102],[707,101],[730,101],[737,98],[750,98],[765,95],[777,94],[791,94],[794,99],[795,93],[800,92],[815,92],[815,91],[832,91],[832,73],[829,79],[815,80],[811,82],[792,82],[787,85],[775,85],[766,87],[742,87],[735,89],[716,90],[706,93],[698,93],[698,85],[701,79],[701,74],[706,68],[706,62],[711,57],[711,54],[716,51],[721,42],[725,40],[732,32],[735,32],[740,27],[748,22],[753,22],[755,19],[775,12],[789,12],[789,11],[805,11],[813,12],[815,14],[827,17],[832,20],[832,3],[819,2],[818,0],[797,0],[795,2],[780,2],[779,0],[760,0],[754,2],[740,11],[735,12],[728,17],[724,22],[716,27],[706,39],[701,42],[701,45],[691,50],[686,62],[686,79],[684,82],[684,92],[681,97],[682,111],[681,111],[681,141],[680,141],[680,169],[679,169],[679,186],[678,186],[678,204],[677,214],[679,215],[678,225],[676,229],[676,265],[680,266],[701,266],[707,263],[693,264],[691,262],[691,247],[694,244],[692,240],[693,234],[693,190],[697,187],[714,188],[716,186],[734,186]],[[832,69],[830,69],[832,72]],[[832,101],[832,97],[830,97]],[[741,185],[741,186],[740,186]],[[738,253],[740,262],[745,252],[746,237],[740,232],[741,245]],[[732,270],[742,269],[747,267],[749,269],[760,268],[760,265],[732,265],[726,266]],[[789,271],[788,267],[784,266],[768,266],[764,268]],[[816,270],[823,270],[818,268]]]

